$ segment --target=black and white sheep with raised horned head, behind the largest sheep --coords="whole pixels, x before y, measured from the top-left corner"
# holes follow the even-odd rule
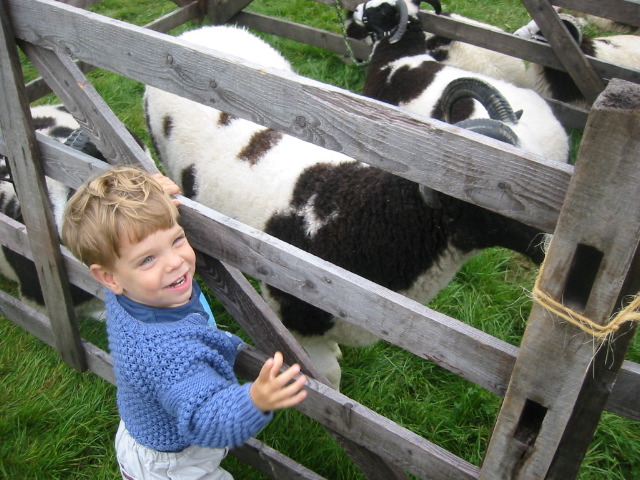
[[[445,89],[461,78],[473,79],[476,84],[489,85],[500,92],[513,111],[518,112],[519,118],[509,124],[518,137],[518,146],[552,160],[567,161],[568,136],[540,95],[436,61],[428,53],[417,15],[418,6],[411,0],[370,0],[356,7],[354,22],[371,32],[375,40],[363,95],[457,123],[490,115],[480,102],[467,99],[456,106],[451,118],[445,118],[442,101]]]

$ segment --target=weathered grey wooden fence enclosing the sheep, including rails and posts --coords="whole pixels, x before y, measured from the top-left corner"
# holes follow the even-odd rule
[[[454,127],[320,82],[257,71],[223,54],[195,50],[160,32],[206,12],[212,23],[233,18],[345,53],[340,35],[243,12],[249,0],[176,3],[180,8],[142,28],[53,0],[0,2],[0,153],[9,157],[26,225],[3,216],[0,238],[35,261],[49,315],[4,292],[0,313],[52,345],[72,367],[114,381],[110,356],[77,331],[68,282],[97,296],[101,292],[57,242],[44,175],[77,187],[105,167],[34,134],[29,102],[51,88],[111,163],[156,168],[86,79],[83,71],[91,66],[214,105],[554,232],[537,287],[552,301],[564,301],[561,310],[571,308],[605,325],[620,299],[637,293],[640,72],[585,60],[565,36],[551,3],[640,25],[638,2],[610,0],[603,12],[603,2],[596,0],[523,0],[550,33],[551,46],[422,14],[426,30],[570,71],[586,98],[595,100],[590,112],[556,105],[566,125],[585,126],[575,169],[499,142],[479,143]],[[332,0],[321,3],[332,5]],[[347,8],[355,4],[344,1]],[[23,85],[16,41],[43,81]],[[351,45],[357,52],[368,49],[356,41]],[[378,123],[378,118],[387,121]],[[475,188],[500,195],[474,196]],[[260,349],[283,350],[285,358],[300,361],[315,377],[299,410],[324,425],[367,478],[403,479],[410,473],[430,479],[566,480],[576,476],[603,410],[640,420],[640,367],[623,361],[633,322],[598,340],[602,348],[594,355],[589,333],[536,304],[517,348],[188,199],[182,200],[181,212],[199,252],[203,280]],[[326,386],[241,272],[332,314],[348,312],[362,328],[503,396],[482,466]],[[613,361],[607,352],[614,354]],[[260,350],[242,353],[239,374],[254,378],[263,360]],[[273,478],[319,478],[255,440],[234,454]]]

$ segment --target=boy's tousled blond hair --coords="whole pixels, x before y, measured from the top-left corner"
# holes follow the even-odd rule
[[[62,242],[86,265],[113,267],[126,235],[138,243],[178,223],[178,208],[160,183],[135,167],[107,170],[82,185],[64,212]]]

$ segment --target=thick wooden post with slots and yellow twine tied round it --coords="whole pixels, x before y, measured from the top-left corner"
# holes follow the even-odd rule
[[[587,122],[481,479],[577,475],[636,327],[597,336],[620,295],[637,293],[622,289],[640,239],[638,178],[640,85],[614,79]]]

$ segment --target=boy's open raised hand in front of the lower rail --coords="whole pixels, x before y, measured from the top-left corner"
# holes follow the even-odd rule
[[[263,412],[293,407],[307,397],[307,392],[302,390],[307,377],[300,375],[291,382],[300,373],[300,365],[292,365],[280,373],[283,362],[282,353],[276,352],[264,363],[249,389],[251,400]]]

